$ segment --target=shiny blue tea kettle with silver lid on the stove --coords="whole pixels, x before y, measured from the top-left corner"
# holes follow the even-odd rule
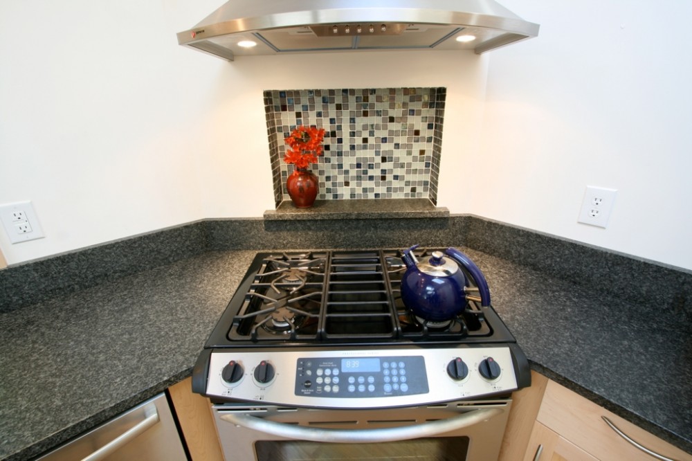
[[[478,287],[483,307],[490,305],[490,290],[483,273],[471,259],[456,248],[444,253],[433,251],[427,260],[419,262],[413,251],[414,245],[403,252],[406,273],[401,278],[401,298],[406,308],[423,320],[450,320],[466,309],[471,296],[466,293],[470,282],[466,280],[462,266]]]

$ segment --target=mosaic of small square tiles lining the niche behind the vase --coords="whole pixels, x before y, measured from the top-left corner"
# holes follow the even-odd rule
[[[437,204],[445,97],[442,87],[264,91],[276,206],[290,200],[284,138],[298,125],[325,129],[325,153],[310,168],[318,200]]]

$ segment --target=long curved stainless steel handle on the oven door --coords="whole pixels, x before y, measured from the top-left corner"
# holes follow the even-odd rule
[[[463,415],[410,426],[397,426],[376,429],[330,429],[284,424],[253,417],[242,413],[226,413],[219,417],[226,422],[243,426],[263,433],[286,437],[294,440],[311,440],[312,442],[337,443],[376,443],[410,440],[420,437],[432,437],[441,433],[456,431],[502,413],[500,408],[481,408]]]

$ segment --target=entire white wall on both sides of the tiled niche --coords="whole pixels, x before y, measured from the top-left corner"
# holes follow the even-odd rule
[[[444,86],[441,206],[692,269],[687,2],[643,42],[663,23],[644,2],[503,0],[540,37],[482,57],[177,45],[221,3],[0,0],[0,204],[32,200],[46,233],[0,233],[10,264],[273,208],[265,89]],[[586,184],[619,189],[607,230],[576,224]]]

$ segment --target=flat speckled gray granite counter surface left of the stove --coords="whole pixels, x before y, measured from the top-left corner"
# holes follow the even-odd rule
[[[30,459],[189,376],[254,256],[209,252],[0,314],[0,459]]]

